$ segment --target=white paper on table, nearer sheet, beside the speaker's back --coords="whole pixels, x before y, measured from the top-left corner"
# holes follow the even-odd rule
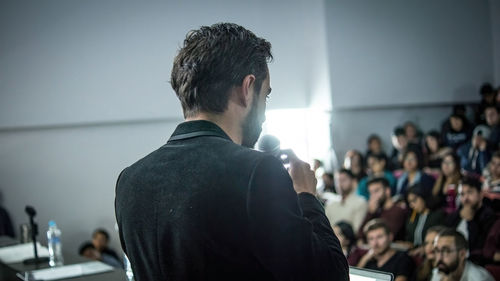
[[[99,261],[91,261],[79,264],[64,265],[31,271],[36,280],[57,280],[63,278],[78,277],[82,275],[96,274],[113,270],[112,266]]]

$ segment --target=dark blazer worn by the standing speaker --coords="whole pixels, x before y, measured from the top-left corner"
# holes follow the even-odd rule
[[[115,211],[137,281],[348,279],[319,201],[207,121],[126,168]]]

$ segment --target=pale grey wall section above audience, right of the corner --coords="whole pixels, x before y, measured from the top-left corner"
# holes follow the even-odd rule
[[[493,79],[487,1],[326,1],[334,108],[475,101]]]

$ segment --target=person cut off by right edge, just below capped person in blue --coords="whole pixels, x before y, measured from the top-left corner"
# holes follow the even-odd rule
[[[500,213],[500,151],[493,153],[483,177],[485,201],[496,213]]]

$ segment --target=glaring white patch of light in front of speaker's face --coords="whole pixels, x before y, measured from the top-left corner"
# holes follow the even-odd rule
[[[268,110],[262,133],[277,137],[281,149],[292,149],[304,161],[324,159],[330,148],[329,116],[312,109]]]

